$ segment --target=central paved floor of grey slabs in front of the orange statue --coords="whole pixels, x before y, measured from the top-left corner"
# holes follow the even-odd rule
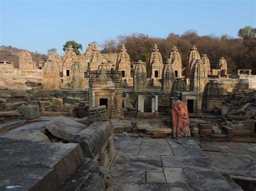
[[[113,190],[232,190],[194,140],[120,137]]]

